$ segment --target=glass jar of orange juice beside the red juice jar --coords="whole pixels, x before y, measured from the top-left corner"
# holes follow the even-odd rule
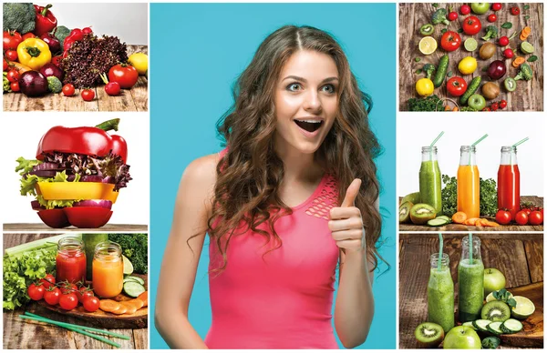
[[[93,257],[93,290],[98,297],[113,298],[123,289],[121,247],[113,241],[98,243]]]

